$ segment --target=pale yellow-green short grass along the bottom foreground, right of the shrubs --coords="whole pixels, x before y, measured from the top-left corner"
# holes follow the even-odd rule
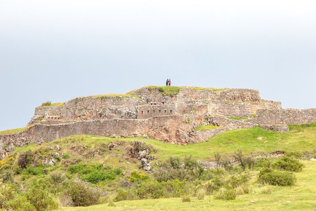
[[[191,202],[182,203],[181,198],[152,199],[115,202],[116,207],[107,204],[86,208],[63,208],[65,211],[136,211],[136,210],[314,210],[316,208],[316,162],[303,161],[305,167],[300,173],[295,173],[298,182],[294,187],[273,187],[272,194],[261,193],[263,188],[256,184],[256,176],[250,183],[252,191],[240,195],[236,200],[215,200],[206,196],[204,200],[192,198]],[[257,172],[253,172],[255,173]],[[255,203],[250,203],[250,201]],[[290,201],[290,202],[287,202]]]

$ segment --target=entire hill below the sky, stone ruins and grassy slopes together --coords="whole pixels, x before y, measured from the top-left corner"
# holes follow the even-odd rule
[[[310,209],[315,122],[241,88],[46,102],[0,132],[0,209]]]

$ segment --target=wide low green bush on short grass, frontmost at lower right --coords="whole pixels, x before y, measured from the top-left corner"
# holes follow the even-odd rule
[[[260,171],[258,180],[263,184],[293,186],[296,182],[296,177],[291,172],[272,171],[271,169],[264,168]]]

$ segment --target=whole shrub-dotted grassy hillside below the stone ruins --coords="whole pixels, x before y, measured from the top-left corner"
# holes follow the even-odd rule
[[[316,158],[316,123],[289,126],[289,133],[256,127],[188,145],[89,135],[30,143],[0,161],[1,206],[71,211],[313,210],[316,162],[309,159]],[[110,143],[115,144],[112,150]],[[138,151],[136,155],[131,146],[154,158],[148,160],[152,173],[140,169]],[[276,151],[285,156],[275,156]],[[212,161],[215,169],[204,169],[198,160]],[[270,178],[280,184],[271,185]],[[98,205],[66,207],[92,204]]]

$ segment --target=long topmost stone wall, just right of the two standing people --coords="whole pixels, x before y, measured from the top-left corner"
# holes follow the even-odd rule
[[[236,102],[260,102],[258,90],[229,88],[223,91],[212,91],[211,89],[196,90],[192,88],[181,88],[177,100],[211,100],[211,101],[236,101]]]

